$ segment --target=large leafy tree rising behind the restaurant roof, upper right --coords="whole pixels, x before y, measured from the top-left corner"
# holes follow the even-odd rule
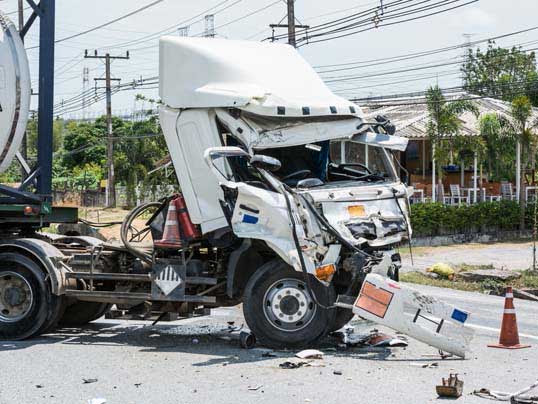
[[[520,47],[505,49],[494,41],[485,51],[469,50],[461,68],[466,91],[512,101],[526,95],[538,106],[538,73],[534,52],[525,53]]]

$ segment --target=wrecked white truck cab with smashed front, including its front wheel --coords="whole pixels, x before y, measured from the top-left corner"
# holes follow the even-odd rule
[[[411,228],[392,151],[407,140],[287,45],[165,37],[160,58],[160,121],[191,220],[260,258],[234,268],[249,277],[250,328],[273,345],[340,328],[353,313],[327,309],[337,295],[356,296],[369,272],[398,278],[393,248]]]

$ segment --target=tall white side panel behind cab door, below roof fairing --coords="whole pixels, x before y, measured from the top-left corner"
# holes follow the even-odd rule
[[[163,107],[160,121],[192,222],[203,233],[227,226],[219,203],[222,190],[204,160],[207,148],[221,146],[214,112]]]

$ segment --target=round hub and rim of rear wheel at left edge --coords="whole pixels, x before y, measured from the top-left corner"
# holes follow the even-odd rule
[[[24,318],[34,302],[30,283],[22,275],[0,272],[0,321],[13,323]]]

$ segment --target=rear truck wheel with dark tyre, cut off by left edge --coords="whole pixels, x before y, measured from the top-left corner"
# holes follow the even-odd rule
[[[39,265],[20,254],[0,254],[1,340],[21,340],[45,330],[54,322],[56,299]]]

